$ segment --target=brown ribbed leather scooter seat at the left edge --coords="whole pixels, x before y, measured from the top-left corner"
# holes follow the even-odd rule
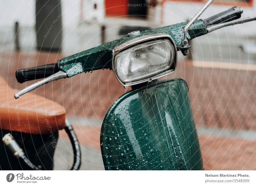
[[[1,129],[31,134],[51,134],[63,129],[65,109],[60,104],[34,93],[15,100],[13,95],[17,92],[0,77]]]

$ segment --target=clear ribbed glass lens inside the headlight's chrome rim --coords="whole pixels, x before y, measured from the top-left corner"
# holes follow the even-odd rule
[[[123,83],[156,76],[172,67],[175,51],[169,39],[137,44],[115,56],[116,75]]]

